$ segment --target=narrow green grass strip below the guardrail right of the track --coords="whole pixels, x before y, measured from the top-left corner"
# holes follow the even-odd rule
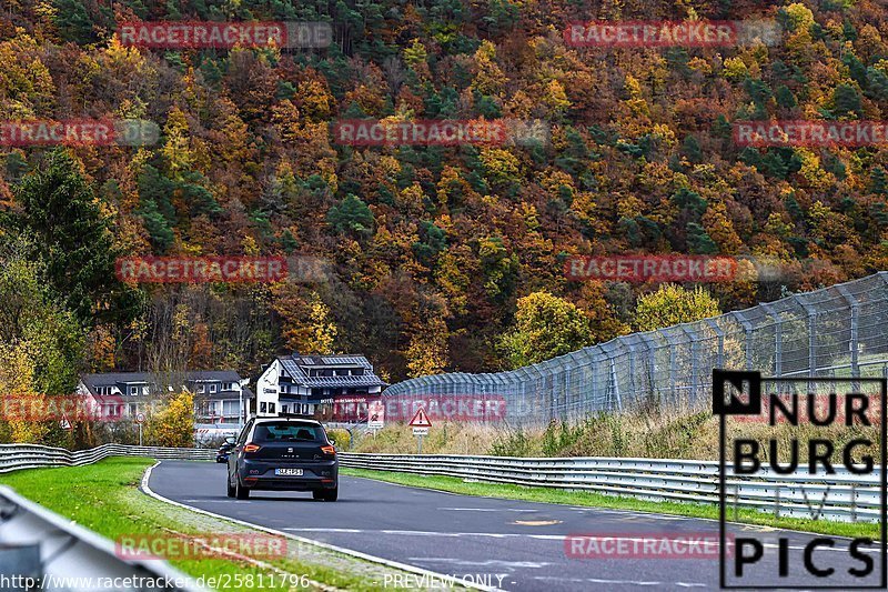
[[[464,481],[455,476],[418,475],[412,473],[396,473],[391,471],[371,471],[367,469],[341,468],[340,474],[350,476],[364,476],[411,485],[414,488],[433,489],[462,495],[480,495],[484,498],[501,498],[505,500],[523,500],[528,502],[559,503],[566,505],[585,505],[592,508],[608,508],[614,510],[630,510],[635,512],[655,512],[658,514],[674,514],[688,518],[706,518],[718,520],[718,505],[679,502],[652,502],[635,498],[603,495],[591,491],[571,491],[551,488],[534,488],[512,485],[506,483],[482,483]],[[816,504],[816,501],[813,501]],[[771,526],[775,529],[789,529],[835,536],[870,536],[879,540],[881,534],[876,523],[844,523],[827,522],[824,520],[808,520],[799,518],[775,518],[756,510],[738,509],[736,518],[733,511],[728,512],[728,520],[744,524]]]

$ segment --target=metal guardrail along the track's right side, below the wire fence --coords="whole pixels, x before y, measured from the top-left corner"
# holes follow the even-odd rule
[[[652,501],[718,503],[718,462],[659,459],[467,456],[340,453],[343,466],[456,476]],[[881,515],[880,472],[811,476],[758,471],[726,475],[727,503],[779,516],[874,522]],[[821,505],[823,504],[823,505]]]

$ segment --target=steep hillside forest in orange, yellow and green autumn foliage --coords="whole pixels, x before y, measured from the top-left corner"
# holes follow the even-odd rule
[[[225,19],[326,21],[333,42],[168,51],[114,36],[124,21]],[[770,47],[568,47],[566,23],[591,19],[774,19],[783,32]],[[0,120],[39,118],[160,129],[144,147],[0,146],[0,354],[47,392],[77,370],[255,375],[290,350],[364,353],[393,382],[643,328],[637,298],[654,287],[567,281],[572,254],[749,254],[790,270],[706,285],[706,313],[888,269],[885,146],[757,149],[731,132],[888,119],[876,0],[3,0]],[[331,122],[363,118],[533,119],[549,139],[333,142]],[[117,258],[147,254],[311,254],[333,273],[117,280]],[[534,320],[564,324],[548,350],[522,350]]]

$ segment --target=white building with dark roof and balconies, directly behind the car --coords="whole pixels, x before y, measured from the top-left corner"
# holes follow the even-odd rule
[[[336,398],[377,397],[387,385],[363,355],[281,355],[256,380],[256,412],[323,419]]]

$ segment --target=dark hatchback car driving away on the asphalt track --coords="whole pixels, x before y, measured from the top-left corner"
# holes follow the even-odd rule
[[[336,501],[336,449],[316,421],[286,418],[250,420],[229,455],[228,495],[245,500],[251,491],[311,491],[315,500]]]

